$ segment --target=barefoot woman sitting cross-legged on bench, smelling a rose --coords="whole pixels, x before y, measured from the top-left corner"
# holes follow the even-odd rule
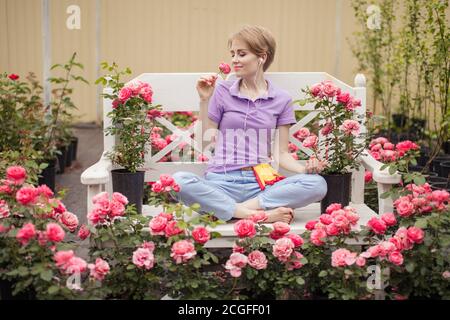
[[[216,82],[217,76],[205,76],[197,82],[203,133],[215,132],[214,155],[203,177],[173,175],[180,185],[177,200],[199,203],[201,211],[225,221],[264,210],[267,222],[290,223],[293,209],[325,197],[326,181],[317,174],[325,164],[313,159],[302,166],[289,153],[289,127],[296,123],[292,98],[264,77],[275,56],[272,34],[246,26],[230,37],[228,47],[238,79]],[[273,161],[296,174],[264,181],[255,169]]]

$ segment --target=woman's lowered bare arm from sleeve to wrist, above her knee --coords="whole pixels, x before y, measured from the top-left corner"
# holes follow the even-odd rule
[[[295,160],[289,153],[289,127],[290,125],[279,126],[278,137],[275,137],[274,160],[283,169],[295,172],[306,173],[306,168]]]

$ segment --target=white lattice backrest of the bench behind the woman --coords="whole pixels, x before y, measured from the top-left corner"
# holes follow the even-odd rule
[[[143,73],[133,80],[140,80],[149,83],[153,88],[153,103],[160,104],[163,107],[163,111],[177,112],[177,111],[199,111],[199,97],[196,90],[196,84],[201,76],[209,75],[213,73]],[[304,97],[301,89],[311,86],[323,80],[332,80],[335,85],[341,88],[341,90],[349,92],[351,95],[361,100],[361,107],[357,108],[356,112],[361,115],[366,113],[366,88],[365,78],[362,74],[358,74],[355,77],[355,87],[352,87],[325,72],[267,72],[265,77],[269,79],[275,86],[286,90],[293,98],[293,100],[301,99]],[[220,79],[220,78],[219,78]],[[230,74],[227,79],[235,79],[234,74]],[[220,80],[218,80],[220,81]],[[110,88],[105,88],[105,92],[110,93]],[[300,119],[295,125],[292,125],[290,133],[290,142],[297,145],[304,153],[310,154],[310,150],[302,147],[301,142],[293,137],[293,134],[300,128],[304,127],[308,122],[314,120],[317,112],[314,111],[312,105],[294,106],[295,110],[308,111],[307,115]],[[104,99],[103,101],[103,114],[104,114],[104,126],[110,125],[111,120],[106,116],[108,112],[112,110],[112,101],[110,99]],[[205,162],[158,162],[164,155],[175,149],[182,141],[193,145],[197,152],[201,152],[201,126],[199,121],[198,125],[193,126],[187,131],[177,130],[176,126],[171,124],[165,118],[158,118],[161,126],[166,126],[172,131],[176,131],[177,136],[180,138],[168,144],[164,149],[151,156],[151,152],[148,152],[145,161],[146,181],[154,181],[159,178],[162,173],[173,174],[177,171],[191,171],[198,175],[202,175],[207,163]],[[362,129],[365,131],[365,128]],[[194,134],[194,138],[191,139],[190,135]],[[321,136],[319,135],[319,139]],[[184,139],[184,140],[183,140]],[[111,150],[114,146],[114,136],[104,135],[104,148],[105,150]],[[149,148],[150,148],[149,144]],[[299,160],[300,163],[304,163],[304,160]],[[293,173],[280,169],[280,172],[286,176],[290,176]],[[352,176],[352,202],[363,203],[364,202],[364,169],[360,168],[358,171],[354,171]]]

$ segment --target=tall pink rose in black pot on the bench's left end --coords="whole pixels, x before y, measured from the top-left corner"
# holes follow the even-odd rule
[[[152,105],[153,90],[148,83],[120,82],[122,75],[131,73],[130,69],[119,71],[117,64],[110,66],[106,62],[102,63],[102,67],[112,72],[112,75],[101,77],[96,83],[101,82],[112,89],[112,93],[103,96],[113,101],[113,110],[108,113],[112,125],[105,129],[106,134],[116,136],[114,148],[108,152],[113,164],[120,167],[111,171],[113,189],[125,195],[141,213],[145,171],[140,169],[153,127],[153,113],[158,112],[160,105]]]

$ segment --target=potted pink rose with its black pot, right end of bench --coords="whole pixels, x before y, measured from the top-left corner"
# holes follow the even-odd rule
[[[361,101],[342,92],[330,80],[302,89],[302,92],[305,93],[305,99],[294,103],[314,104],[314,109],[318,111],[320,134],[323,136],[319,142],[318,136],[307,128],[300,129],[296,135],[305,148],[312,149],[312,157],[327,163],[321,175],[327,181],[329,192],[321,202],[321,211],[324,212],[331,203],[348,205],[351,194],[350,170],[359,168],[358,156],[368,144],[362,132],[365,115],[355,113]],[[323,156],[319,154],[319,149],[325,149]]]

